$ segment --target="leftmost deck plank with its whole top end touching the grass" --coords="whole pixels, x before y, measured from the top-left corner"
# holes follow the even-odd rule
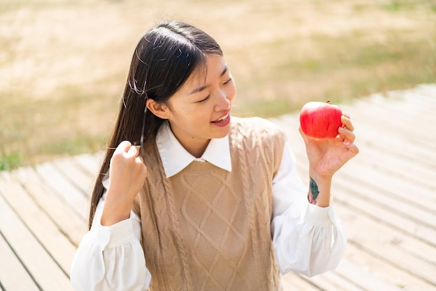
[[[13,178],[20,183],[39,207],[56,223],[56,225],[76,245],[87,230],[87,220],[81,217],[77,211],[65,205],[59,200],[59,195],[40,180],[40,176],[33,168],[23,167],[11,173]]]

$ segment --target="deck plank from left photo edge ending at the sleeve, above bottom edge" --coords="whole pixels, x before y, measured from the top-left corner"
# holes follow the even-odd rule
[[[47,249],[49,255],[63,269],[65,274],[70,274],[72,258],[76,247],[65,237],[63,231],[49,219],[47,214],[36,205],[35,201],[26,191],[14,181],[8,173],[0,176],[0,194],[8,201],[10,207],[20,216],[20,219],[31,230],[40,244]]]

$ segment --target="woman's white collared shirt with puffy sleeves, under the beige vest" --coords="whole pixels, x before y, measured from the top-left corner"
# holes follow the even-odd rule
[[[203,155],[196,158],[164,124],[156,136],[156,144],[166,178],[193,161],[207,161],[226,171],[232,170],[228,136],[212,139]],[[109,187],[107,181],[104,186]],[[334,269],[345,249],[345,233],[332,206],[308,203],[307,188],[297,176],[295,157],[288,143],[272,181],[272,192],[271,230],[281,273],[292,271],[313,276]],[[147,290],[151,275],[139,242],[141,220],[132,211],[130,219],[101,226],[104,197],[98,204],[91,230],[77,249],[70,274],[72,285],[75,290]]]

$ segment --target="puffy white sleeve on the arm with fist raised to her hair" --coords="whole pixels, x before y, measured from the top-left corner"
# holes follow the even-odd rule
[[[104,196],[98,203],[93,226],[81,240],[72,262],[74,290],[147,290],[151,275],[146,268],[139,237],[141,221],[134,212],[113,226],[102,226]]]

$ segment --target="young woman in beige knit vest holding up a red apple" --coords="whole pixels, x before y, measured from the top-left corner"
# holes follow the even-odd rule
[[[300,130],[308,191],[276,125],[230,115],[235,92],[203,31],[163,22],[141,38],[72,264],[76,290],[279,290],[280,272],[338,265],[330,185],[358,152],[350,118],[336,139]]]

